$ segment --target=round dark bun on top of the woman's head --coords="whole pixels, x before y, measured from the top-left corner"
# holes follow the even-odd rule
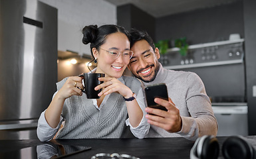
[[[84,36],[82,37],[82,43],[88,44],[89,42],[94,42],[97,32],[97,25],[84,26],[84,28],[82,28],[82,34],[84,34]]]

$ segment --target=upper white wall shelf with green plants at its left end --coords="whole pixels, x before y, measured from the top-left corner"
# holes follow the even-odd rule
[[[239,42],[244,42],[245,40],[243,38],[236,39],[236,40],[225,40],[225,41],[219,41],[219,42],[209,42],[204,44],[195,44],[188,46],[188,49],[195,49],[195,48],[205,48],[205,47],[211,47],[211,46],[219,46],[219,45],[225,45],[225,44],[235,44]],[[179,51],[180,48],[169,48],[167,52],[176,52]]]

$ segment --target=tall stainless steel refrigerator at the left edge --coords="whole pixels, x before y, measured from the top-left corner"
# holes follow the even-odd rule
[[[56,91],[57,9],[0,0],[0,139],[37,138],[37,120]]]

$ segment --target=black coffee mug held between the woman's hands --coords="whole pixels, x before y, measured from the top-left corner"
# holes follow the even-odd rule
[[[80,74],[79,77],[82,77],[84,80],[84,89],[82,90],[83,93],[86,93],[88,99],[98,99],[98,93],[102,91],[99,89],[97,91],[94,90],[94,87],[103,83],[103,81],[99,81],[98,78],[104,78],[105,74],[98,74],[98,73],[84,73]]]

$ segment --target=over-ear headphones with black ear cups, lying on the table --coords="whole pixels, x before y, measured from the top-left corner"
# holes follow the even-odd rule
[[[229,136],[222,145],[225,159],[256,159],[256,150],[243,136]],[[195,141],[190,159],[215,159],[219,156],[219,142],[215,136],[204,135]]]

